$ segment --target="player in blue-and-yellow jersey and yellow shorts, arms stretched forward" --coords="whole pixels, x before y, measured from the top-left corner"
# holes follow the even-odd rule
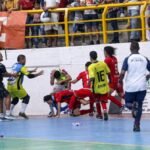
[[[43,74],[43,71],[40,71],[38,73],[33,73],[36,72],[36,69],[32,71],[28,71],[25,64],[26,64],[25,55],[19,55],[17,57],[17,63],[15,63],[12,66],[12,72],[17,73],[18,77],[10,77],[8,79],[7,89],[12,97],[11,108],[10,108],[11,114],[13,112],[14,107],[18,103],[19,99],[21,99],[22,108],[21,111],[19,112],[19,116],[28,119],[28,116],[25,114],[25,110],[29,103],[30,96],[28,95],[28,93],[26,92],[26,90],[22,85],[23,79],[24,76],[27,76],[30,79],[41,76]]]

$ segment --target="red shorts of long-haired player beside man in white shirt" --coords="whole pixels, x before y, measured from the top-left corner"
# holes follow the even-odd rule
[[[117,93],[123,94],[123,86],[118,82],[112,82],[109,84],[109,87],[113,90],[115,90]]]

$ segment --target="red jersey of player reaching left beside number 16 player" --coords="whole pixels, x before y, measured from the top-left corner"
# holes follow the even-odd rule
[[[82,80],[83,88],[90,88],[90,86],[88,84],[89,83],[89,74],[88,74],[88,71],[81,72],[78,75],[77,80]]]

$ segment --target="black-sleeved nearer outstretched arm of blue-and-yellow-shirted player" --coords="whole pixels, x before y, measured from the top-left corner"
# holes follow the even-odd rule
[[[27,68],[24,66],[21,68],[21,73],[23,73],[24,75],[26,75],[28,78],[32,79],[32,78],[36,78],[38,76],[43,75],[43,70],[41,70],[40,72],[37,73],[30,73]]]

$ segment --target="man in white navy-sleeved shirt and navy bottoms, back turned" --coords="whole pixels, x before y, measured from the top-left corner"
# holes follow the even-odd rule
[[[143,101],[146,96],[146,76],[150,72],[150,61],[139,53],[138,42],[133,41],[130,46],[131,55],[125,58],[120,75],[122,83],[125,78],[126,106],[132,110],[135,118],[133,131],[140,131]]]

